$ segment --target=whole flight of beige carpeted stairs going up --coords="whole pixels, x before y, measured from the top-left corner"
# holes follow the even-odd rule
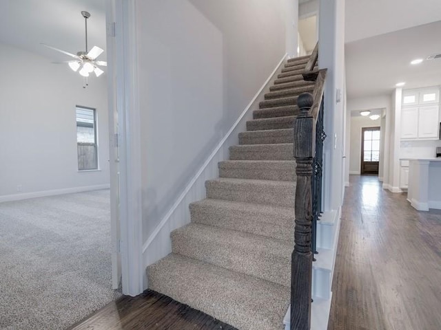
[[[150,289],[241,330],[283,329],[294,248],[293,124],[309,57],[287,61],[278,79],[190,204],[192,222],[172,232],[172,254],[147,267]]]

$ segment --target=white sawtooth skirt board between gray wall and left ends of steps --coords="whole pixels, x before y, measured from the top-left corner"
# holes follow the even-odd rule
[[[190,222],[189,204],[205,198],[205,181],[218,177],[218,162],[227,159],[229,146],[237,144],[238,133],[246,131],[246,122],[252,119],[253,110],[258,109],[259,102],[264,100],[264,95],[269,92],[269,87],[274,85],[274,80],[277,79],[277,74],[280,72],[280,67],[285,63],[286,57],[287,54],[276,65],[274,72],[269,75],[267,81],[249,102],[238,120],[207,157],[196,175],[189,181],[181,195],[145,241],[143,244],[143,269],[172,252],[170,233]],[[147,285],[147,278],[145,278],[145,288],[147,288]]]

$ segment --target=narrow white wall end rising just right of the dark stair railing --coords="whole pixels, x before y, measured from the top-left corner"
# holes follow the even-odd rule
[[[320,0],[318,65],[325,84],[324,209],[340,210],[344,190],[345,0]],[[337,100],[337,90],[341,100]]]

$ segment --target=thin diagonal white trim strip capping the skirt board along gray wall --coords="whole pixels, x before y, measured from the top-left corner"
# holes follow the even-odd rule
[[[161,229],[164,227],[164,225],[167,223],[167,221],[169,221],[170,217],[172,216],[172,214],[175,212],[176,208],[178,208],[179,204],[181,204],[181,202],[183,201],[183,199],[185,198],[185,196],[187,195],[187,193],[189,192],[190,189],[192,189],[194,183],[198,180],[198,178],[201,176],[201,174],[204,172],[205,168],[208,166],[208,164],[210,162],[212,162],[212,159],[214,158],[214,156],[216,155],[216,153],[218,153],[218,151],[220,150],[220,148],[223,147],[223,144],[225,143],[225,141],[228,139],[229,135],[231,135],[231,133],[234,131],[234,129],[236,129],[236,126],[240,123],[240,121],[243,119],[243,117],[247,114],[247,112],[249,111],[249,109],[251,109],[252,104],[256,101],[256,99],[258,98],[258,96],[262,93],[263,89],[265,89],[265,87],[267,87],[269,81],[271,80],[271,78],[274,76],[274,74],[276,74],[277,70],[280,68],[280,65],[282,65],[282,63],[285,61],[285,58],[287,58],[288,54],[285,54],[283,56],[283,58],[280,60],[280,62],[278,63],[278,65],[276,66],[276,68],[274,69],[273,72],[271,72],[271,74],[269,75],[269,77],[267,78],[267,80],[265,81],[265,83],[262,85],[262,87],[260,87],[260,89],[258,90],[258,92],[256,93],[256,95],[254,96],[254,98],[249,102],[249,104],[247,105],[247,107],[245,108],[245,110],[240,114],[239,118],[236,120],[236,122],[234,122],[233,126],[231,127],[231,129],[229,129],[229,131],[227,132],[227,134],[223,137],[222,140],[220,140],[220,142],[218,143],[218,145],[216,146],[216,148],[214,148],[214,151],[212,151],[212,153],[208,156],[208,158],[205,160],[204,164],[201,166],[201,168],[199,168],[198,172],[196,173],[196,175],[194,175],[194,177],[192,178],[191,181],[189,181],[189,184],[187,184],[187,186],[185,187],[185,189],[183,190],[183,192],[181,193],[181,195],[178,197],[178,199],[176,199],[176,201],[174,202],[172,208],[170,208],[170,210],[167,212],[167,214],[165,214],[165,216],[163,217],[163,219],[161,220],[161,222],[156,226],[156,228],[154,229],[154,231],[152,232],[152,234],[150,234],[149,238],[147,239],[147,241],[145,241],[145,243],[143,244],[143,253],[145,253],[145,251],[149,248],[150,244],[152,244],[152,242],[154,241],[154,239],[156,238],[156,236],[158,235],[159,232],[161,232]]]

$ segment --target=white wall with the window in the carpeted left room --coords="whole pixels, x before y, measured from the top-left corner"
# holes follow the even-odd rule
[[[0,44],[0,199],[109,184],[107,81]],[[79,173],[75,106],[96,109],[99,167]],[[17,191],[18,190],[21,191]],[[55,191],[53,191],[55,190]]]

